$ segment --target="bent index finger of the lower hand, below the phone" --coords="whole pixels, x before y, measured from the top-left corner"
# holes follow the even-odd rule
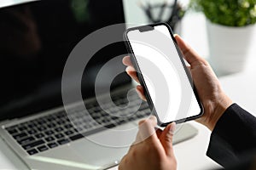
[[[143,121],[139,122],[139,135],[140,139],[143,142],[152,142],[155,141],[157,138],[155,133],[155,128],[157,125],[156,117],[150,116],[148,119],[144,119]]]

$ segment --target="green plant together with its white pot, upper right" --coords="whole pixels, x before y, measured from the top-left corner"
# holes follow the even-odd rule
[[[256,0],[190,0],[207,18],[210,61],[218,75],[243,70],[256,23]]]

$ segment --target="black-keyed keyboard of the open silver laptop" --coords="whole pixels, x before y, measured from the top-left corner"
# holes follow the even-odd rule
[[[113,102],[120,107],[127,105],[126,93],[117,94],[112,98]],[[87,111],[76,106],[68,111],[68,116],[64,110],[58,111],[32,121],[6,127],[6,130],[29,155],[34,155],[61,144],[82,139],[84,136],[106,128],[149,116],[150,110],[146,102],[143,102],[136,111],[141,102],[137,94],[133,93],[131,94],[131,107],[125,110],[120,107],[113,108],[107,104],[103,111],[96,103],[90,103],[86,104]],[[106,107],[111,114],[106,112]]]

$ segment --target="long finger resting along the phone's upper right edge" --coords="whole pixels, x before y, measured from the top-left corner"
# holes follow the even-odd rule
[[[201,57],[199,54],[197,54],[190,46],[183,41],[181,37],[179,37],[177,34],[174,35],[178,47],[181,49],[183,52],[184,58],[189,62],[190,65],[193,66],[193,63],[201,61]]]

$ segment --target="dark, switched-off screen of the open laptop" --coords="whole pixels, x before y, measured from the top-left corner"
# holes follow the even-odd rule
[[[93,31],[124,23],[125,16],[121,0],[43,0],[0,8],[0,20],[0,120],[4,120],[62,105],[61,76],[73,48]],[[115,36],[121,39],[124,31],[125,26]],[[90,59],[82,79],[84,98],[94,95],[97,71],[120,54],[126,54],[124,42],[108,45]],[[121,61],[116,65],[124,67]],[[128,82],[131,79],[122,73],[112,88]]]

